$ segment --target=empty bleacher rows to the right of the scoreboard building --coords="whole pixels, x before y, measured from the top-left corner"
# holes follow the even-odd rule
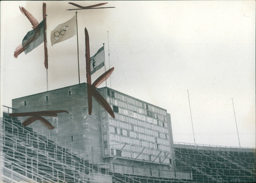
[[[255,182],[255,152],[193,146],[174,150],[176,171],[191,172],[193,182]]]

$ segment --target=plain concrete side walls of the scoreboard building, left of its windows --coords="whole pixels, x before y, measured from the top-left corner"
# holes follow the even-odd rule
[[[70,91],[70,95],[69,95]],[[46,96],[48,101],[46,101]],[[26,106],[25,106],[26,101]],[[12,108],[16,112],[66,110],[59,113],[58,117],[45,117],[55,127],[48,130],[39,121],[28,127],[34,126],[34,131],[39,134],[66,140],[66,147],[79,149],[74,151],[82,157],[90,154],[90,159],[102,162],[101,116],[99,103],[92,98],[92,115],[88,115],[87,85],[86,83],[65,88],[51,90],[35,95],[29,95],[12,100]],[[27,117],[19,117],[23,121]],[[58,144],[65,146],[65,141],[58,139]],[[56,141],[54,138],[51,140]],[[73,140],[73,142],[71,142]],[[85,151],[85,152],[84,152]]]

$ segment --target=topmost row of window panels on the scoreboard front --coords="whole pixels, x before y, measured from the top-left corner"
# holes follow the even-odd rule
[[[146,104],[146,103],[144,104],[143,102],[137,101],[137,100],[135,100],[135,99],[133,99],[131,97],[124,96],[122,94],[119,94],[117,92],[111,91],[109,89],[107,89],[107,95],[110,96],[110,97],[113,97],[115,99],[118,99],[120,101],[124,101],[124,102],[130,103],[130,104],[136,105],[136,106],[140,106],[143,109],[147,109],[147,110],[159,113],[161,115],[165,115],[165,116],[167,115],[166,111],[164,111],[162,109],[159,109],[157,107],[151,106],[151,105]]]

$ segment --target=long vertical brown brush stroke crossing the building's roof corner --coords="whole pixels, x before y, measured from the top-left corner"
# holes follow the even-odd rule
[[[90,44],[89,44],[89,34],[86,29],[84,28],[84,34],[85,34],[85,60],[86,60],[86,78],[87,78],[87,95],[88,95],[88,112],[89,115],[92,115],[92,94],[89,89],[89,85],[92,84],[91,80],[91,65],[90,65]]]

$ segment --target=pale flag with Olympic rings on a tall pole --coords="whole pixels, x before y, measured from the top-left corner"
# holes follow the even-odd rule
[[[67,22],[58,25],[51,32],[51,43],[53,45],[65,41],[74,35],[76,35],[76,15]]]

